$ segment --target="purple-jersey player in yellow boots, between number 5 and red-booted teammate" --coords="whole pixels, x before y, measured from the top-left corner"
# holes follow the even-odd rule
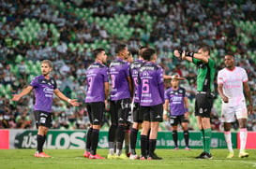
[[[129,76],[128,47],[119,44],[115,48],[116,58],[109,66],[112,81],[111,89],[111,127],[109,130],[108,159],[127,159],[122,154],[122,147],[126,133],[129,105],[132,96],[132,83]],[[114,142],[116,141],[116,155],[114,154]]]

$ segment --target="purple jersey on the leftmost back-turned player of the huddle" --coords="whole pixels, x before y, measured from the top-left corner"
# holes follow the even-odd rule
[[[92,63],[86,71],[87,92],[85,103],[104,102],[104,82],[109,81],[108,67],[101,63]]]

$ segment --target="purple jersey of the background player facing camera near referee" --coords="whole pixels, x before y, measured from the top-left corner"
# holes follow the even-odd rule
[[[184,88],[179,87],[176,91],[173,91],[173,88],[169,88],[165,91],[164,98],[169,101],[170,116],[180,116],[186,113],[184,97],[187,97]]]

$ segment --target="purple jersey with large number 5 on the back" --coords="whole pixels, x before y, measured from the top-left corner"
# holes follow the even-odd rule
[[[163,70],[156,63],[143,64],[138,84],[141,106],[157,106],[164,103]]]

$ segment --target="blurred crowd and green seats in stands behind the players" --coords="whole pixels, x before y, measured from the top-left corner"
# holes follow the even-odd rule
[[[40,74],[41,60],[53,61],[59,89],[83,103],[92,50],[106,49],[110,63],[118,43],[128,44],[134,58],[140,45],[154,47],[165,74],[187,78],[182,85],[188,92],[191,130],[196,129],[196,68],[176,60],[173,49],[196,51],[206,44],[217,70],[224,67],[225,53],[233,51],[237,65],[248,72],[256,106],[255,0],[0,0],[0,8],[0,128],[35,128],[34,94],[18,103],[10,99]],[[211,122],[217,131],[222,128],[220,108],[216,90]],[[104,122],[108,127],[107,111]],[[53,129],[86,129],[88,124],[84,104],[72,107],[53,99]],[[248,130],[256,131],[256,114],[248,117]]]

